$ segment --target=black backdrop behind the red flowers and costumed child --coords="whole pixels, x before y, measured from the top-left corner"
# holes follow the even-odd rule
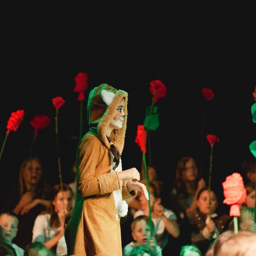
[[[215,97],[208,102],[204,136],[220,139],[214,146],[212,187],[221,197],[221,182],[233,172],[242,174],[242,160],[251,157],[248,146],[256,139],[250,113],[256,84],[255,9],[253,1],[2,2],[0,141],[11,112],[25,111],[0,163],[2,196],[29,156],[29,120],[37,114],[52,122],[39,131],[33,154],[43,162],[47,183],[58,183],[51,102],[56,96],[66,100],[59,110],[59,140],[64,182],[71,182],[78,145],[73,137],[79,135],[74,77],[87,72],[84,131],[93,87],[107,83],[129,94],[123,169],[140,170],[142,154],[134,139],[151,104],[149,82],[166,84],[168,95],[157,102],[160,127],[151,133],[151,151],[152,165],[167,186],[181,157],[199,160],[205,106],[201,89],[212,88]],[[207,180],[206,139],[203,159]]]

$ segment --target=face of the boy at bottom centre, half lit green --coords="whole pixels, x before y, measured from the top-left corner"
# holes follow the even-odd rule
[[[146,223],[144,219],[137,221],[131,235],[137,246],[147,244],[151,235],[149,223]]]

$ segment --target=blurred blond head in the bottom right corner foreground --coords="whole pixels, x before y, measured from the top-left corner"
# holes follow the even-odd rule
[[[256,234],[242,230],[231,235],[221,244],[215,256],[252,256],[256,255]]]

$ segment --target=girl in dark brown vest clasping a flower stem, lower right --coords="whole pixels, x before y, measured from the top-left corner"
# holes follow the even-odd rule
[[[229,225],[230,217],[226,214],[219,216],[215,212],[217,207],[216,194],[205,187],[197,195],[197,208],[187,214],[194,230],[191,243],[197,245],[202,254]]]

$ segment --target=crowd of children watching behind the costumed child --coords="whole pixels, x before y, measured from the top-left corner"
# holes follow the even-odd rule
[[[64,229],[75,204],[75,167],[74,163],[69,184],[49,186],[38,158],[21,163],[18,183],[11,187],[0,213],[0,255],[67,255]],[[245,163],[243,167],[247,168]],[[230,247],[239,250],[249,242],[256,244],[255,176],[248,168],[238,234],[228,213],[218,212],[221,202],[199,177],[194,158],[177,162],[175,181],[168,189],[158,181],[154,167],[148,170],[150,209],[145,195],[138,192],[136,198],[127,200],[128,214],[120,221],[124,256],[235,255],[229,254]]]

